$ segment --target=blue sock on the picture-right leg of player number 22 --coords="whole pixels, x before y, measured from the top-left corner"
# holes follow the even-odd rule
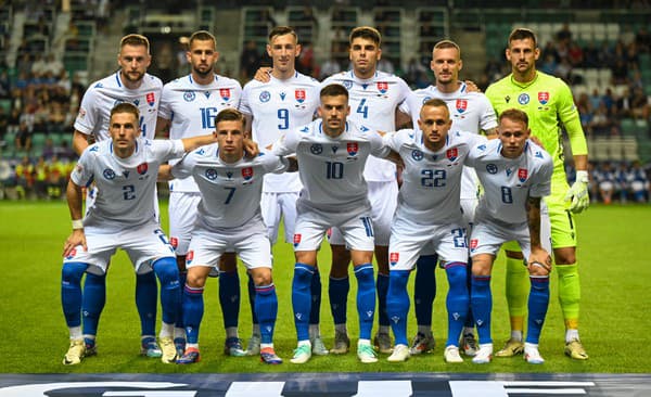
[[[463,262],[449,262],[445,265],[445,272],[448,278],[448,295],[446,307],[448,311],[448,340],[446,346],[458,346],[459,336],[468,316],[470,306],[470,296],[468,295],[468,285],[465,284],[465,273],[468,267]]]

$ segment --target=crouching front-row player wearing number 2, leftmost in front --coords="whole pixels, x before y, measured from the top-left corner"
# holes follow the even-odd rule
[[[78,364],[87,355],[79,318],[84,299],[81,277],[85,272],[105,274],[117,248],[127,252],[137,273],[153,272],[161,281],[162,360],[171,363],[176,358],[173,335],[181,298],[179,272],[174,249],[157,220],[156,177],[158,165],[215,142],[215,138],[210,135],[177,141],[148,140],[141,137],[138,107],[130,103],[113,107],[111,139],[86,149],[68,181],[66,196],[73,233],[63,249],[61,286],[71,337],[63,358],[66,366]],[[98,195],[81,220],[81,189],[93,181]]]

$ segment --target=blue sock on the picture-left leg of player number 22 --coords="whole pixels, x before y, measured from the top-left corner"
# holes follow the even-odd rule
[[[386,294],[386,313],[391,319],[391,328],[396,337],[396,345],[407,343],[407,315],[409,313],[409,294],[407,282],[409,270],[392,270],[388,273],[388,292]]]

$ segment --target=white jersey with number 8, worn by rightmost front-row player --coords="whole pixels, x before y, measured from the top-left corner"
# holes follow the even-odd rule
[[[488,219],[499,225],[526,222],[528,196],[551,192],[551,157],[542,148],[527,141],[518,158],[500,154],[501,141],[490,140],[472,148],[467,164],[476,169],[484,195],[475,213],[476,222]]]

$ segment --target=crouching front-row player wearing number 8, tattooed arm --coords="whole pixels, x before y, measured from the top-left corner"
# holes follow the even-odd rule
[[[531,363],[545,362],[538,341],[549,305],[551,257],[540,241],[540,202],[551,191],[553,164],[547,152],[527,139],[529,133],[526,113],[505,110],[499,115],[499,140],[476,145],[468,156],[467,164],[476,169],[484,188],[470,239],[470,300],[480,334],[474,363],[487,363],[493,358],[490,272],[507,241],[519,243],[529,273],[524,358]]]

